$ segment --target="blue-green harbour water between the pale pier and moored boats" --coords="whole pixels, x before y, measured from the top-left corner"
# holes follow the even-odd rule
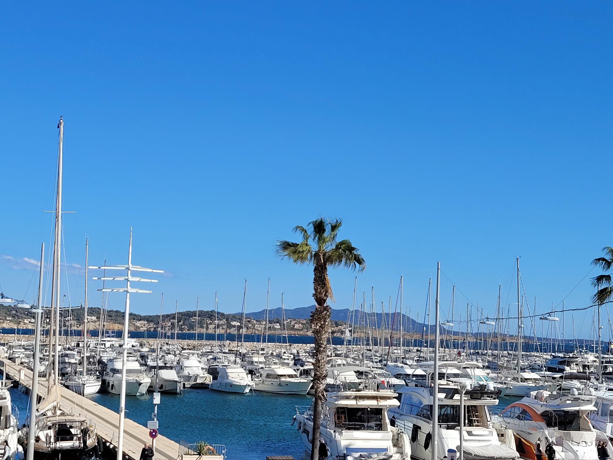
[[[29,397],[16,388],[10,389],[10,393],[23,423]],[[119,395],[98,393],[88,397],[115,412],[119,410]],[[495,408],[507,407],[517,399],[501,397]],[[159,432],[177,443],[223,444],[228,460],[265,460],[268,455],[291,455],[295,460],[307,460],[300,433],[291,422],[295,407],[310,403],[310,396],[233,394],[188,388],[183,394],[162,393],[158,406]],[[152,412],[151,393],[126,397],[128,418],[147,426]]]

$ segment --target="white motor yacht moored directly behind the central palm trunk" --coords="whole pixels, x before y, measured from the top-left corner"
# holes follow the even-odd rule
[[[409,437],[390,424],[387,411],[398,405],[391,391],[328,393],[322,407],[321,450],[326,460],[411,458]],[[313,437],[313,407],[296,407],[296,429],[307,450]],[[321,458],[321,457],[320,457]]]

